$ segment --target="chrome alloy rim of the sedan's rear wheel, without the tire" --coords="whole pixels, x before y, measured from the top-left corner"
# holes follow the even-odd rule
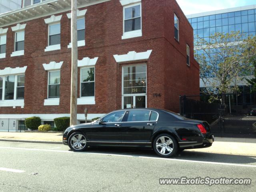
[[[167,136],[162,136],[156,141],[156,149],[162,155],[169,155],[173,150],[173,142]]]

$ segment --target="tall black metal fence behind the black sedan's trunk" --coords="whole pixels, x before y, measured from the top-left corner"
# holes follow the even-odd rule
[[[222,136],[256,137],[256,94],[180,96],[180,114],[207,121],[212,132]]]

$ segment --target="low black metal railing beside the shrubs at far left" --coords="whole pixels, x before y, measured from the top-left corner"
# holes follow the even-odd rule
[[[27,130],[25,118],[0,118],[0,131],[21,132]]]

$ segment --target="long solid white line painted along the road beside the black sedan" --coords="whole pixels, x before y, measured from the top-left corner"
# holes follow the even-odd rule
[[[29,149],[29,148],[1,147],[1,146],[0,146],[0,148],[2,148],[2,149],[28,150],[28,151],[47,151],[47,152],[74,153],[73,151],[63,151],[63,150]],[[235,163],[221,163],[221,162],[211,162],[211,161],[195,161],[195,160],[174,159],[174,158],[146,157],[146,156],[139,156],[139,155],[121,155],[121,154],[94,153],[94,152],[76,152],[76,154],[97,154],[97,155],[108,155],[108,156],[138,157],[138,158],[148,158],[148,159],[157,159],[157,160],[181,161],[181,162],[192,162],[192,163],[203,163],[203,164],[217,164],[217,165],[229,165],[229,166],[241,166],[241,167],[255,167],[256,168],[256,165],[244,165],[244,164],[235,164]]]

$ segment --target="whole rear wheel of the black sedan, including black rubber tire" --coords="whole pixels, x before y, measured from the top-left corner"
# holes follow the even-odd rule
[[[171,157],[177,154],[178,142],[170,134],[160,134],[154,139],[154,151],[161,157]]]

